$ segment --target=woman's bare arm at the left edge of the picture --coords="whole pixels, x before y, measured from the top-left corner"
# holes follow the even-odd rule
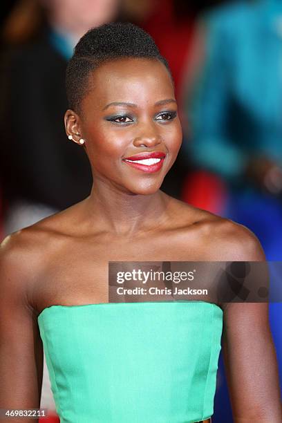
[[[43,348],[28,302],[30,263],[15,244],[6,238],[0,250],[0,408],[22,410],[39,408]],[[28,417],[1,421],[38,422]]]

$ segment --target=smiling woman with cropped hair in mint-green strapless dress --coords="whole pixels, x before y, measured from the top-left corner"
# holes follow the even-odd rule
[[[109,303],[109,261],[264,260],[245,227],[160,191],[182,134],[153,40],[130,23],[88,31],[66,86],[95,184],[3,242],[1,407],[39,406],[43,341],[61,422],[207,420],[224,323],[234,421],[280,422],[267,303]]]

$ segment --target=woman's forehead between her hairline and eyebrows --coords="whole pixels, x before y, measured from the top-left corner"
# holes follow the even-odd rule
[[[110,102],[133,102],[142,106],[167,98],[174,98],[174,88],[162,62],[126,58],[105,62],[90,73],[82,106],[101,108]]]

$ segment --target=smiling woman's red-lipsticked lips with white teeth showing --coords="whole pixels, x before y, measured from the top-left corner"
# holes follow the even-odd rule
[[[151,151],[135,154],[123,159],[126,164],[147,173],[157,172],[162,168],[166,154],[162,151]]]

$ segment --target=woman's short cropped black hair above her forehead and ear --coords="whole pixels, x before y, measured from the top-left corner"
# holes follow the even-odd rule
[[[167,60],[151,35],[133,23],[105,23],[88,30],[79,39],[73,57],[66,68],[66,95],[68,105],[79,113],[81,102],[88,90],[88,75],[100,64],[124,57],[158,59],[169,71]],[[171,76],[172,79],[172,76]]]

